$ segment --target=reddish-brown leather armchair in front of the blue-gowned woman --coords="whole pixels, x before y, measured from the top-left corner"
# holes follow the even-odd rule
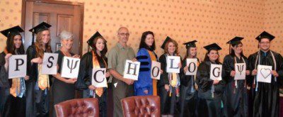
[[[131,96],[121,100],[126,117],[161,116],[159,96]]]

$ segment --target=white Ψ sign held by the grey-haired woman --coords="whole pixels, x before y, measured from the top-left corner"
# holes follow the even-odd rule
[[[63,57],[61,77],[77,78],[81,60],[74,57]]]

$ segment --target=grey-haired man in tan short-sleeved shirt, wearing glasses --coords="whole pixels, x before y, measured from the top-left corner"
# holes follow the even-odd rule
[[[134,50],[127,45],[129,30],[125,27],[119,28],[117,32],[118,43],[108,53],[108,69],[112,75],[112,95],[114,103],[113,116],[123,116],[121,99],[134,95],[134,80],[125,79],[122,74],[126,60],[135,57]]]

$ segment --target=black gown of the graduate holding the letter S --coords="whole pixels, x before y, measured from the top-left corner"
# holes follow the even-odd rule
[[[36,58],[35,45],[30,45],[26,51],[28,57],[27,64],[27,74],[30,77],[25,81],[25,96],[26,96],[26,116],[49,116],[50,100],[49,100],[49,91],[45,89],[35,89],[35,85],[38,77],[38,68],[37,63],[31,64],[30,60]],[[49,78],[51,79],[51,75]],[[52,82],[50,80],[50,86]]]

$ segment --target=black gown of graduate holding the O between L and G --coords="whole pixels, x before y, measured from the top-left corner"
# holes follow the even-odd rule
[[[198,60],[198,59],[197,59]],[[195,76],[185,75],[184,67],[187,66],[187,61],[183,60],[182,69],[180,69],[180,117],[182,116],[197,116],[197,90],[195,89]]]

